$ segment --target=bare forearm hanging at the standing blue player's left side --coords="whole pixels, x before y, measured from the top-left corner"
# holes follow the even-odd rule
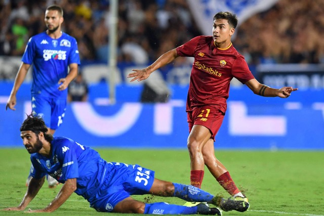
[[[29,64],[21,63],[18,73],[15,78],[14,87],[12,88],[9,99],[7,101],[6,110],[8,108],[12,109],[12,110],[16,110],[16,108],[15,108],[16,100],[17,100],[16,94],[20,88],[20,85],[22,84],[22,82],[24,81],[24,79],[26,77],[29,67],[30,67]]]

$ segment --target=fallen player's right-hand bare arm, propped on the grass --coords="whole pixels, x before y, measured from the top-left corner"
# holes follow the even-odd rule
[[[68,179],[62,186],[55,199],[44,209],[29,209],[28,212],[53,212],[58,209],[76,190],[76,179]]]

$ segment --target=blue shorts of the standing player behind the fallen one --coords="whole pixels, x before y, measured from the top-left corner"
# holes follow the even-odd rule
[[[44,98],[31,95],[31,109],[34,115],[42,117],[47,127],[57,129],[63,122],[66,98]]]

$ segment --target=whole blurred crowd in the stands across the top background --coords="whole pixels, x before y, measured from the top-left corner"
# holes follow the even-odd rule
[[[63,8],[63,30],[77,39],[82,64],[107,62],[109,0],[0,1],[0,55],[22,56],[29,37],[46,30],[51,4]],[[236,31],[234,47],[251,65],[324,63],[324,0],[279,0]],[[186,0],[118,0],[118,62],[151,63],[197,35]]]

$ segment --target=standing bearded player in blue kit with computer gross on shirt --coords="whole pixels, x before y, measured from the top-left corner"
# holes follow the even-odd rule
[[[28,69],[33,65],[32,112],[44,118],[49,133],[53,135],[63,122],[67,87],[77,75],[80,59],[76,39],[61,31],[62,8],[56,5],[48,7],[45,23],[47,30],[32,36],[28,41],[6,110],[15,110],[16,94]],[[28,181],[29,177],[26,184]],[[58,184],[51,177],[48,182],[50,187]]]

